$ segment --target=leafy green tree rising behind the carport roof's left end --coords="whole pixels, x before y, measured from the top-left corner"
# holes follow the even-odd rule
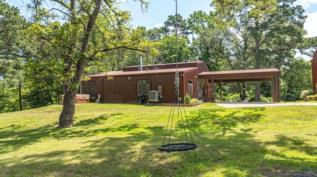
[[[230,59],[233,35],[218,26],[214,22],[216,18],[213,12],[194,11],[187,19],[189,30],[197,36],[193,37],[193,53],[211,71],[234,70]]]

